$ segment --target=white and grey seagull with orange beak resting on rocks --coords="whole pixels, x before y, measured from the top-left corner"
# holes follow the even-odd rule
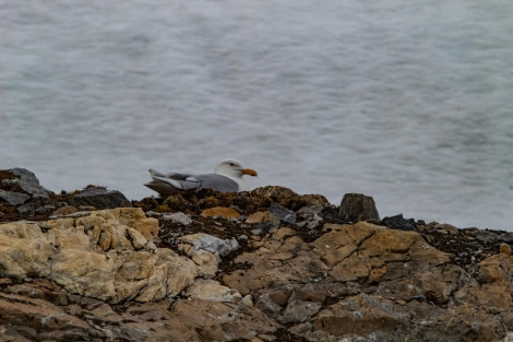
[[[254,169],[246,168],[239,161],[225,160],[220,162],[213,174],[190,175],[171,173],[162,174],[148,169],[152,181],[145,184],[162,197],[168,197],[182,190],[212,189],[222,192],[248,191],[249,188],[242,179],[243,175],[256,177]]]

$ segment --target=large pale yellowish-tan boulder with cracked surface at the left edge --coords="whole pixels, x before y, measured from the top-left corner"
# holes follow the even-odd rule
[[[192,284],[198,269],[190,259],[155,249],[136,228],[120,223],[140,211],[48,221],[41,223],[46,233],[37,224],[0,225],[0,276],[46,278],[70,293],[108,303],[174,297]]]

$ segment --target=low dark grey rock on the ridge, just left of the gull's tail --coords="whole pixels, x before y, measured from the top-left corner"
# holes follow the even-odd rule
[[[71,198],[74,207],[93,205],[96,209],[111,209],[132,207],[130,201],[117,190],[107,190],[102,187],[90,187]]]

